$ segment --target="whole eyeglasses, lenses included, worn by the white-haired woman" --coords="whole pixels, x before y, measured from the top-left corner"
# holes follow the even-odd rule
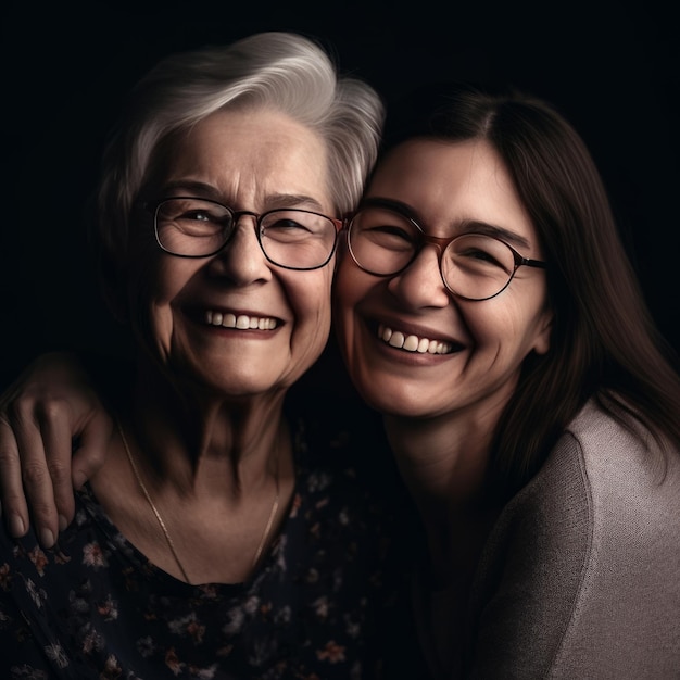
[[[306,210],[270,210],[257,214],[193,197],[163,199],[147,207],[153,214],[159,245],[179,257],[215,255],[227,245],[239,219],[251,215],[265,257],[286,269],[318,269],[326,265],[342,228],[340,219]]]

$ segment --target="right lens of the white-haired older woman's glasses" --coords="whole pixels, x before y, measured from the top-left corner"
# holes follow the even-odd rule
[[[264,254],[275,264],[291,269],[316,269],[333,253],[338,231],[324,215],[303,210],[266,213],[260,225]]]

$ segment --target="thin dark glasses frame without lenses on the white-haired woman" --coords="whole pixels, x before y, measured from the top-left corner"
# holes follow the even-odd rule
[[[226,210],[230,215],[231,215],[231,219],[232,219],[232,226],[231,226],[231,232],[229,234],[229,237],[225,240],[225,242],[217,248],[216,250],[214,250],[211,253],[207,253],[206,255],[186,255],[184,253],[175,253],[172,250],[168,250],[167,248],[165,248],[163,245],[163,243],[161,243],[161,238],[159,236],[159,210],[161,209],[161,205],[163,205],[163,203],[167,203],[169,201],[202,201],[204,203],[212,203],[213,205],[218,205],[219,207]],[[212,199],[204,199],[202,197],[199,196],[171,196],[171,197],[165,197],[163,199],[159,199],[155,201],[151,201],[148,203],[143,204],[143,207],[151,213],[151,216],[153,217],[153,234],[155,236],[155,242],[159,244],[159,248],[167,253],[168,255],[173,255],[174,257],[186,257],[189,260],[200,260],[202,257],[213,257],[215,256],[217,253],[222,252],[231,241],[231,238],[234,237],[234,235],[236,234],[236,229],[238,227],[239,221],[241,217],[245,216],[245,215],[250,215],[251,217],[255,218],[255,223],[254,223],[254,228],[255,228],[255,237],[257,238],[257,243],[260,244],[260,250],[262,251],[262,254],[265,256],[265,259],[267,260],[267,262],[270,262],[273,265],[276,265],[277,267],[280,267],[281,269],[291,269],[293,272],[313,272],[314,269],[320,269],[322,267],[325,267],[331,260],[331,257],[333,256],[333,253],[336,252],[336,249],[338,247],[338,236],[341,231],[341,229],[344,227],[344,221],[342,219],[337,219],[335,217],[329,217],[328,215],[324,215],[323,213],[317,213],[313,210],[304,210],[304,209],[300,209],[300,207],[276,207],[274,210],[268,210],[265,211],[264,213],[255,213],[251,210],[234,210],[231,207],[229,207],[228,205],[225,205],[224,203],[221,203],[219,201],[214,201]],[[264,249],[264,245],[262,244],[262,221],[267,216],[270,215],[272,213],[279,213],[279,212],[295,212],[295,213],[306,213],[308,215],[316,215],[317,217],[324,217],[325,219],[328,219],[335,227],[336,227],[336,235],[335,235],[335,239],[333,239],[333,243],[332,243],[332,248],[330,249],[330,252],[328,253],[328,257],[326,257],[326,260],[318,265],[315,265],[313,267],[291,267],[289,265],[285,265],[285,264],[279,264],[278,262],[275,262],[274,260],[272,260],[272,257],[269,257],[269,255],[267,255],[267,252]]]

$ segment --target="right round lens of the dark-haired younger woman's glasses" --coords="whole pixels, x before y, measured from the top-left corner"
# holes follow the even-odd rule
[[[493,237],[465,234],[449,243],[441,268],[454,293],[486,300],[507,286],[515,270],[515,257],[505,243]]]

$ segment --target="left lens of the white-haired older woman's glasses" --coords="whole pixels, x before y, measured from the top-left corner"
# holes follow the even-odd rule
[[[155,232],[163,250],[174,255],[203,257],[216,253],[231,232],[231,213],[201,199],[168,199],[155,211]]]

